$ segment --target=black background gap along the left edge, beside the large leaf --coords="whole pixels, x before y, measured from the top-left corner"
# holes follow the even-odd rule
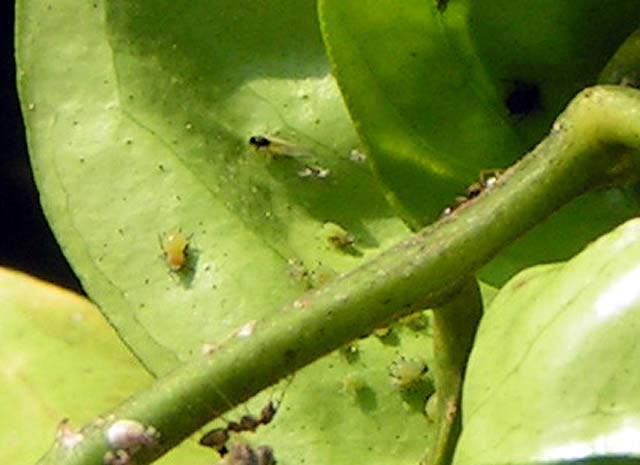
[[[16,90],[14,2],[0,1],[0,266],[81,291],[44,218]]]

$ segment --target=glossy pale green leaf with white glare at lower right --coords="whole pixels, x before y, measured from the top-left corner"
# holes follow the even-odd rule
[[[455,465],[640,458],[640,221],[528,269],[480,324]]]

